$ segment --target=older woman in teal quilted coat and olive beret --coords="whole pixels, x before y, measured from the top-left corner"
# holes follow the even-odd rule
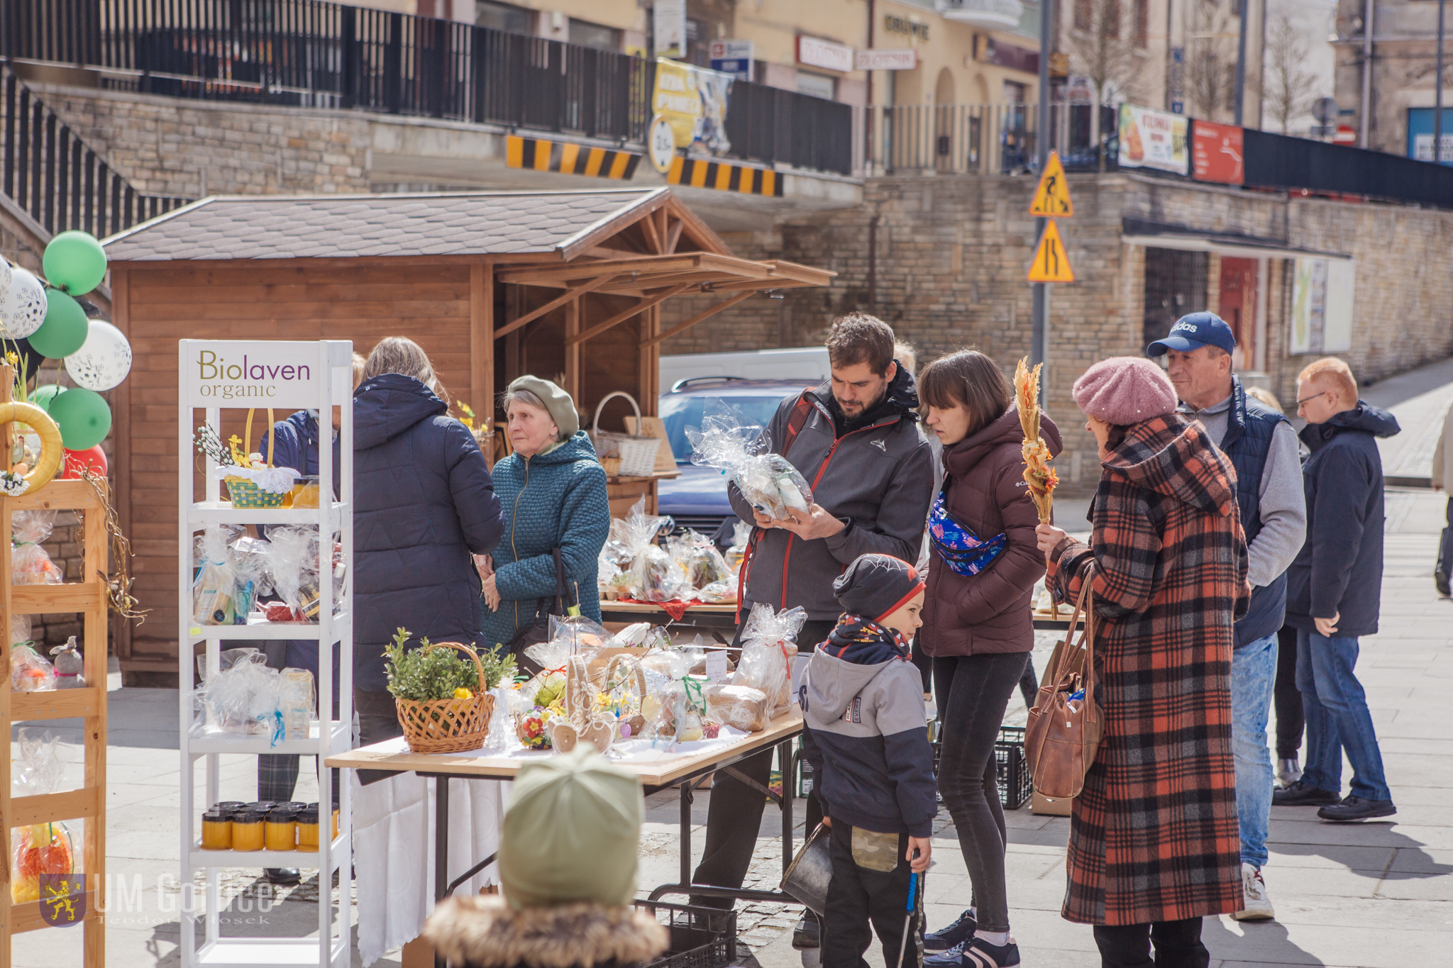
[[[478,554],[484,581],[485,644],[509,644],[520,628],[548,615],[555,599],[561,550],[570,598],[580,614],[600,621],[596,560],[610,534],[606,470],[570,393],[522,376],[504,393],[514,453],[494,466],[494,493],[504,508],[504,537],[494,554]]]

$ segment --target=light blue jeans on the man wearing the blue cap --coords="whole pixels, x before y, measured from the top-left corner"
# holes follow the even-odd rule
[[[1271,749],[1267,714],[1276,686],[1276,634],[1255,639],[1231,653],[1231,750],[1237,763],[1237,820],[1241,861],[1261,869],[1267,862],[1271,819]]]

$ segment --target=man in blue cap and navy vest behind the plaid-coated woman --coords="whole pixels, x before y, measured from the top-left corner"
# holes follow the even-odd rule
[[[1306,498],[1296,432],[1231,372],[1237,337],[1216,313],[1193,312],[1145,348],[1167,356],[1180,414],[1199,419],[1237,469],[1237,504],[1247,533],[1251,607],[1237,623],[1231,657],[1231,743],[1241,826],[1239,920],[1274,917],[1261,866],[1271,819],[1271,750],[1267,717],[1276,685],[1277,630],[1286,612],[1286,569],[1306,538]]]

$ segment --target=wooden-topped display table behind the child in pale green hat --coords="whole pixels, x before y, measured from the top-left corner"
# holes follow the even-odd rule
[[[772,720],[763,731],[751,733],[742,742],[725,749],[677,756],[654,763],[616,763],[620,769],[641,778],[641,787],[647,795],[671,787],[680,789],[681,879],[676,884],[657,887],[651,891],[652,901],[667,894],[696,894],[700,897],[729,897],[750,901],[774,901],[779,904],[799,903],[796,898],[780,891],[754,891],[748,888],[692,884],[692,791],[700,787],[709,774],[718,769],[729,769],[732,763],[741,762],[763,747],[776,746],[777,756],[782,760],[782,794],[763,789],[763,795],[776,801],[782,808],[782,872],[786,875],[788,865],[792,864],[792,740],[801,731],[802,713],[793,708]],[[379,746],[363,746],[347,753],[328,756],[324,765],[340,769],[414,772],[420,776],[432,776],[434,779],[434,901],[437,903],[493,864],[497,856],[491,855],[455,879],[449,879],[449,781],[453,778],[514,779],[520,768],[532,760],[509,759],[504,756],[461,756],[456,753],[389,753],[378,749]],[[732,772],[735,774],[735,771]],[[745,779],[740,774],[737,774],[737,778]]]

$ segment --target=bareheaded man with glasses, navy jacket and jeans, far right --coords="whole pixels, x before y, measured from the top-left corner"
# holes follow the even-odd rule
[[[1334,357],[1296,377],[1302,441],[1312,456],[1306,544],[1287,572],[1286,621],[1296,628],[1296,688],[1306,713],[1302,778],[1277,789],[1279,807],[1321,807],[1322,820],[1398,813],[1382,769],[1367,695],[1357,681],[1357,639],[1377,631],[1382,601],[1383,496],[1377,437],[1399,431],[1392,414],[1357,399],[1357,380]],[[1343,798],[1343,752],[1353,766]]]

